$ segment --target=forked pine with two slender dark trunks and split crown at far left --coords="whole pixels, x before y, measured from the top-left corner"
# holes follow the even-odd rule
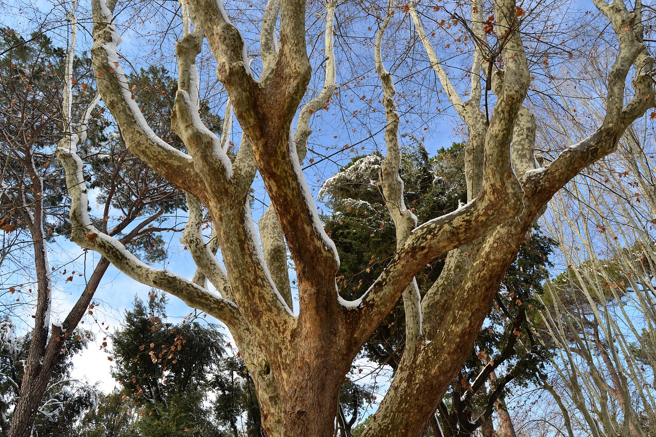
[[[34,343],[30,357],[26,358],[28,370],[24,371],[28,383],[16,404],[18,413],[10,417],[13,423],[18,423],[12,435],[24,436],[30,434],[35,420],[41,421],[33,417],[37,410],[54,415],[47,409],[58,405],[60,407],[54,410],[58,415],[77,414],[70,409],[73,404],[65,402],[64,398],[45,399],[43,394],[51,381],[51,373],[56,373],[60,350],[68,348],[62,341],[68,341],[68,333],[72,333],[87,314],[87,308],[93,307],[93,293],[109,262],[101,259],[96,264],[72,312],[64,315],[59,325],[51,325],[51,310],[56,311],[51,308],[51,284],[56,268],[51,268],[43,255],[52,239],[70,233],[70,201],[64,196],[64,172],[54,156],[56,144],[66,135],[62,89],[70,80],[70,115],[72,119],[81,119],[96,94],[95,79],[91,59],[85,54],[73,58],[71,76],[66,78],[66,49],[55,47],[44,33],[34,33],[24,39],[15,31],[0,28],[0,52],[0,119],[3,121],[0,123],[0,264],[3,264],[0,278],[7,291],[0,302],[5,314],[16,316],[14,308],[20,310],[23,301],[37,295],[32,315],[34,332],[26,337]],[[156,93],[149,87],[137,86],[154,81],[155,77],[160,82],[153,82]],[[135,84],[135,99],[151,109],[149,119],[157,122],[162,135],[165,129],[169,136],[173,135],[169,125],[171,93],[174,93],[176,81],[158,68],[142,70],[133,75],[131,81]],[[102,113],[102,108],[92,111],[85,130],[87,140],[79,144],[81,159],[85,167],[91,169],[87,180],[98,195],[98,203],[104,203],[100,217],[92,217],[92,220],[98,230],[118,238],[138,257],[148,262],[161,260],[165,251],[160,232],[175,230],[175,224],[167,222],[167,213],[184,208],[184,195],[138,161],[127,150],[119,133],[106,135],[110,123]],[[208,121],[218,121],[209,111],[205,110],[204,114]],[[217,123],[213,126],[219,129]],[[179,141],[177,146],[180,147]],[[66,269],[62,274],[66,274]],[[33,278],[36,278],[37,287],[33,286]],[[70,276],[62,285],[72,280]],[[75,392],[77,390],[72,394]],[[62,409],[64,406],[66,409]],[[9,427],[9,422],[5,422],[1,426]],[[36,426],[43,428],[45,425],[37,423]],[[55,433],[54,430],[48,432]]]

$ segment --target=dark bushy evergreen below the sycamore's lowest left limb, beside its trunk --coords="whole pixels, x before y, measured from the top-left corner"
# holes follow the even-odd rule
[[[123,404],[115,410],[127,408],[134,415],[134,423],[123,421],[121,429],[146,437],[237,437],[245,416],[247,436],[258,436],[255,388],[241,359],[227,354],[216,327],[197,320],[168,322],[165,306],[165,297],[154,292],[148,304],[135,299],[112,335],[112,376],[122,385]],[[110,435],[102,429],[115,428],[111,414],[95,415],[100,419],[92,435]]]

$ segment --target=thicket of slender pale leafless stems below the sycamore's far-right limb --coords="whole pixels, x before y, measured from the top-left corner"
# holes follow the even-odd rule
[[[546,220],[568,268],[545,296],[548,338],[559,351],[545,388],[569,436],[655,435],[651,131],[628,129],[619,152],[559,194]]]

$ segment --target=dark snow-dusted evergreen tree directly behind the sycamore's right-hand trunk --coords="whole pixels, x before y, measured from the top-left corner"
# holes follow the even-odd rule
[[[401,154],[400,175],[405,204],[412,205],[411,211],[422,224],[427,218],[457,209],[466,195],[462,173],[453,171],[462,168],[464,154],[461,144],[454,144],[428,159],[421,144],[415,147]],[[379,186],[372,183],[377,180],[381,160],[377,155],[354,158],[319,192],[319,199],[326,201],[332,211],[322,220],[341,261],[340,293],[350,299],[361,297],[371,286],[395,249],[394,229],[388,222],[384,198]],[[438,421],[432,423],[434,435],[466,436],[483,425],[491,427],[495,409],[500,416],[508,414],[503,398],[510,386],[539,383],[545,377],[550,348],[533,336],[531,323],[539,317],[539,296],[548,276],[546,269],[552,266],[548,257],[555,244],[535,228],[520,247],[472,353],[440,402]],[[420,293],[438,278],[442,267],[443,259],[438,259],[419,272]],[[403,304],[398,302],[364,344],[367,358],[397,369],[405,341],[403,316]],[[497,369],[503,371],[501,377]],[[512,427],[509,417],[505,425]]]

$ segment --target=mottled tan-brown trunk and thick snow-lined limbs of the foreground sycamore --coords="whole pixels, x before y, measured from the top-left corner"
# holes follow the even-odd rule
[[[103,0],[94,0],[92,55],[96,75],[102,77],[98,88],[134,154],[190,194],[185,241],[199,274],[187,280],[140,264],[118,241],[91,226],[73,136],[58,148],[73,199],[72,239],[98,251],[135,280],[169,291],[226,323],[255,377],[263,427],[270,436],[333,435],[338,388],[344,375],[361,344],[403,295],[408,346],[364,435],[417,437],[434,417],[436,406],[470,352],[506,268],[535,217],[581,169],[612,152],[628,124],[655,104],[653,82],[647,75],[652,59],[642,44],[640,26],[634,26],[639,12],[628,12],[617,2],[607,5],[596,1],[611,20],[620,45],[608,74],[607,117],[598,131],[540,171],[535,171],[533,159],[535,120],[523,104],[531,73],[516,3],[494,3],[494,30],[503,43],[499,52],[491,53],[482,28],[482,2],[472,2],[472,31],[480,41],[466,102],[432,49],[417,5],[408,6],[431,66],[468,129],[469,202],[417,227],[402,200],[394,81],[384,68],[380,51],[392,14],[383,14],[386,18],[382,18],[375,49],[386,115],[387,154],[381,165],[381,181],[396,225],[397,251],[365,295],[346,302],[335,285],[337,251],[323,231],[300,169],[311,133],[310,115],[323,108],[335,91],[335,3],[326,5],[324,87],[299,111],[311,75],[305,1],[268,1],[260,33],[264,68],[257,79],[249,67],[241,33],[230,23],[220,1],[190,1],[190,18],[196,27],[191,30],[187,26],[178,43],[180,80],[172,119],[189,152],[182,154],[154,136],[131,100],[116,53],[118,38],[112,13]],[[232,162],[226,143],[203,126],[198,114],[194,60],[203,38],[216,58],[218,79],[243,129],[243,140]],[[503,70],[493,71],[493,58],[498,56],[503,60]],[[626,77],[632,66],[638,72],[632,81],[635,94],[625,105]],[[491,114],[487,105],[482,106],[483,83],[495,94]],[[261,247],[247,207],[256,171],[271,199],[260,222]],[[200,203],[213,219],[225,270],[215,260],[213,248],[199,235]],[[90,234],[94,237],[87,238]],[[297,316],[291,312],[287,250],[298,280]],[[420,300],[415,274],[447,252],[440,280]],[[214,283],[221,296],[205,287],[203,276]]]

